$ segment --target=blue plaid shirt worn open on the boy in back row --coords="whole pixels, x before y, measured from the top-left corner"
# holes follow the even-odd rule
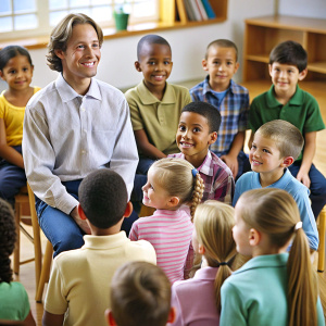
[[[215,93],[210,87],[209,76],[190,89],[193,102],[208,102],[217,108],[221,113],[217,140],[210,147],[218,155],[218,152],[228,152],[235,136],[248,127],[249,92],[247,88],[230,80],[230,87],[221,103]]]

